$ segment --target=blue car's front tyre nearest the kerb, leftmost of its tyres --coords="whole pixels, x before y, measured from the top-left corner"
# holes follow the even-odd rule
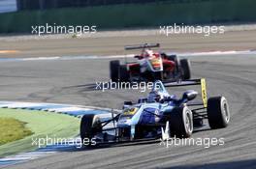
[[[102,132],[100,117],[94,114],[83,115],[80,121],[80,138],[83,145],[92,146],[92,138]]]

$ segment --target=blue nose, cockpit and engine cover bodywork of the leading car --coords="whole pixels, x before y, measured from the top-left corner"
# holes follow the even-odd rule
[[[152,99],[157,93],[160,100],[156,101]],[[150,96],[152,95],[152,96]],[[164,99],[169,99],[169,101],[161,101]],[[186,100],[177,101],[179,99],[176,96],[171,96],[165,89],[161,81],[156,81],[153,85],[151,92],[148,95],[147,99],[143,102],[124,105],[124,110],[119,116],[117,121],[118,128],[129,127],[131,128],[131,136],[135,134],[136,126],[154,126],[161,122],[166,112],[172,112],[172,110],[178,106],[178,104],[183,103]]]

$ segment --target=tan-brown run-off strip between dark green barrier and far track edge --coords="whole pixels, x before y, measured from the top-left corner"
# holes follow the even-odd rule
[[[255,26],[254,26],[255,27]],[[228,29],[228,28],[227,28]],[[120,55],[124,45],[160,42],[161,49],[174,52],[256,49],[256,30],[227,31],[205,37],[202,34],[159,35],[159,30],[99,32],[77,39],[71,36],[0,37],[0,57],[48,57],[80,55]],[[13,50],[2,53],[1,50]],[[16,52],[14,52],[16,51]],[[126,51],[125,53],[134,51]]]

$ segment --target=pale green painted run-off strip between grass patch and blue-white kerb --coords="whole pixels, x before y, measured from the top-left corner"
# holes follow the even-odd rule
[[[15,118],[26,123],[25,127],[33,132],[23,139],[0,146],[0,157],[37,149],[37,146],[32,146],[32,138],[45,138],[46,135],[70,138],[77,135],[80,128],[78,118],[44,111],[0,108],[0,118]]]

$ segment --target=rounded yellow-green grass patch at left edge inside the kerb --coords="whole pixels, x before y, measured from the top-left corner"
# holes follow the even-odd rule
[[[14,118],[0,117],[0,146],[31,135],[33,132],[25,125]]]

